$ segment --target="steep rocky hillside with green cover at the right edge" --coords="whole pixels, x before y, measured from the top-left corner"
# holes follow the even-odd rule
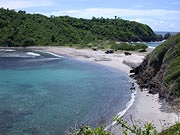
[[[142,64],[133,69],[141,88],[159,93],[178,107],[180,99],[180,33],[172,36],[150,53]]]

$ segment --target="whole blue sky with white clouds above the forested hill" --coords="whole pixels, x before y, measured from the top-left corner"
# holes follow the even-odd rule
[[[0,7],[46,16],[117,16],[147,24],[154,31],[180,32],[180,0],[0,0]]]

